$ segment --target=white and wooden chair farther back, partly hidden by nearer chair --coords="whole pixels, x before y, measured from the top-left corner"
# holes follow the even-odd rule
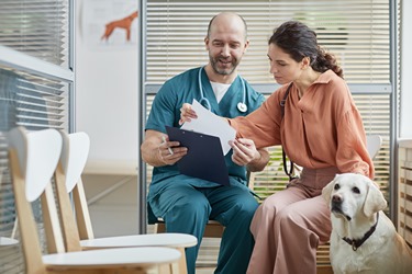
[[[63,150],[55,173],[55,183],[67,251],[130,247],[169,247],[177,249],[181,253],[179,270],[180,273],[186,274],[185,248],[193,247],[198,243],[194,236],[163,233],[94,239],[81,182],[81,173],[89,152],[89,136],[86,133],[67,134],[65,132],[60,132],[60,135],[63,137]],[[70,192],[73,192],[77,225],[69,199]]]

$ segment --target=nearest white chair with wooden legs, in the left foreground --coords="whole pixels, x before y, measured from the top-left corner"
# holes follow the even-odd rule
[[[65,253],[51,178],[62,150],[55,129],[26,133],[12,129],[8,135],[11,179],[19,219],[21,247],[27,274],[74,273],[177,273],[170,267],[180,253],[170,248],[129,248]],[[52,194],[52,195],[51,195]],[[47,244],[57,253],[43,255],[31,202],[42,195]]]

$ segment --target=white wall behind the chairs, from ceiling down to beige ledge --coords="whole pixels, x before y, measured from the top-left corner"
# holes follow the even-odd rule
[[[76,130],[90,135],[86,172],[135,174],[137,167],[137,21],[127,42],[104,25],[137,10],[137,1],[76,1]]]

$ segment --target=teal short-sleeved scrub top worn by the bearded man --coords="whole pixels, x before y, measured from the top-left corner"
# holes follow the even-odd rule
[[[193,99],[200,102],[201,92],[199,90],[198,73],[199,69],[193,68],[185,71],[164,83],[157,92],[151,114],[147,118],[145,129],[153,129],[166,134],[165,126],[180,127],[180,107],[183,103],[192,103]],[[256,92],[246,80],[245,84],[245,104],[247,111],[242,113],[237,110],[237,103],[243,102],[243,83],[238,76],[227,92],[224,94],[220,103],[213,93],[209,78],[204,71],[201,72],[201,84],[203,88],[204,98],[207,98],[211,105],[211,111],[222,117],[236,117],[245,116],[260,106],[265,101],[265,96]],[[225,161],[230,175],[231,184],[246,184],[246,168],[240,167],[232,161],[232,150],[225,156]],[[216,183],[187,176],[180,174],[177,164],[164,165],[154,168],[153,179],[149,185],[148,199],[155,197],[162,192],[162,189],[167,186],[168,183],[172,184],[191,184],[196,187],[211,187],[218,186]]]

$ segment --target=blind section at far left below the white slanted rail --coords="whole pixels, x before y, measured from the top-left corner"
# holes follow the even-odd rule
[[[0,66],[0,130],[67,129],[68,84]]]

